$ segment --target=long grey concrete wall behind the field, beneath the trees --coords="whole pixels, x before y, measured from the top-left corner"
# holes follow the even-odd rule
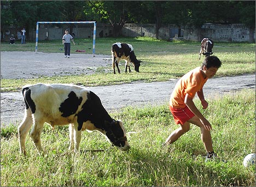
[[[38,40],[61,40],[65,29],[69,29],[70,25],[63,24],[39,24]],[[9,41],[10,34],[14,34],[18,38],[20,29],[11,26],[4,29],[4,41]],[[178,31],[179,35],[178,35]],[[94,25],[93,24],[75,24],[73,25],[74,38],[93,38]],[[113,27],[110,24],[97,23],[96,38],[112,37]],[[72,33],[71,33],[72,34]],[[147,36],[155,38],[155,24],[135,24],[127,23],[124,25],[121,34],[124,37],[138,37]],[[172,40],[176,35],[179,38],[191,41],[201,41],[202,38],[211,38],[214,41],[249,41],[249,28],[243,24],[229,24],[229,25],[214,25],[205,24],[202,28],[185,27],[178,28],[173,24],[163,25],[159,29],[159,39]],[[36,30],[30,31],[30,36],[27,38],[30,41],[36,41]],[[255,40],[255,29],[254,29]]]

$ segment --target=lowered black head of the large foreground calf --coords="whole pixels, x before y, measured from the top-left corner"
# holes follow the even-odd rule
[[[127,142],[123,122],[113,119],[111,123],[105,121],[105,125],[106,136],[108,137],[110,143],[112,143],[113,146],[117,147],[120,150],[128,150],[130,148],[130,145]]]

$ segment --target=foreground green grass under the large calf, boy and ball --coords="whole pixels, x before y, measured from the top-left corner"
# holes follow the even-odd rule
[[[214,150],[226,163],[205,162],[195,125],[162,148],[161,143],[178,127],[167,104],[129,106],[110,113],[124,122],[129,152],[114,148],[73,154],[67,151],[68,126],[53,131],[45,124],[45,154],[38,156],[28,136],[24,157],[19,154],[16,126],[1,129],[1,186],[254,186],[255,166],[245,168],[242,161],[255,153],[255,91],[245,89],[208,102],[207,110],[200,110],[213,126]],[[200,106],[199,99],[195,104]],[[81,150],[109,146],[99,132],[82,133]]]

